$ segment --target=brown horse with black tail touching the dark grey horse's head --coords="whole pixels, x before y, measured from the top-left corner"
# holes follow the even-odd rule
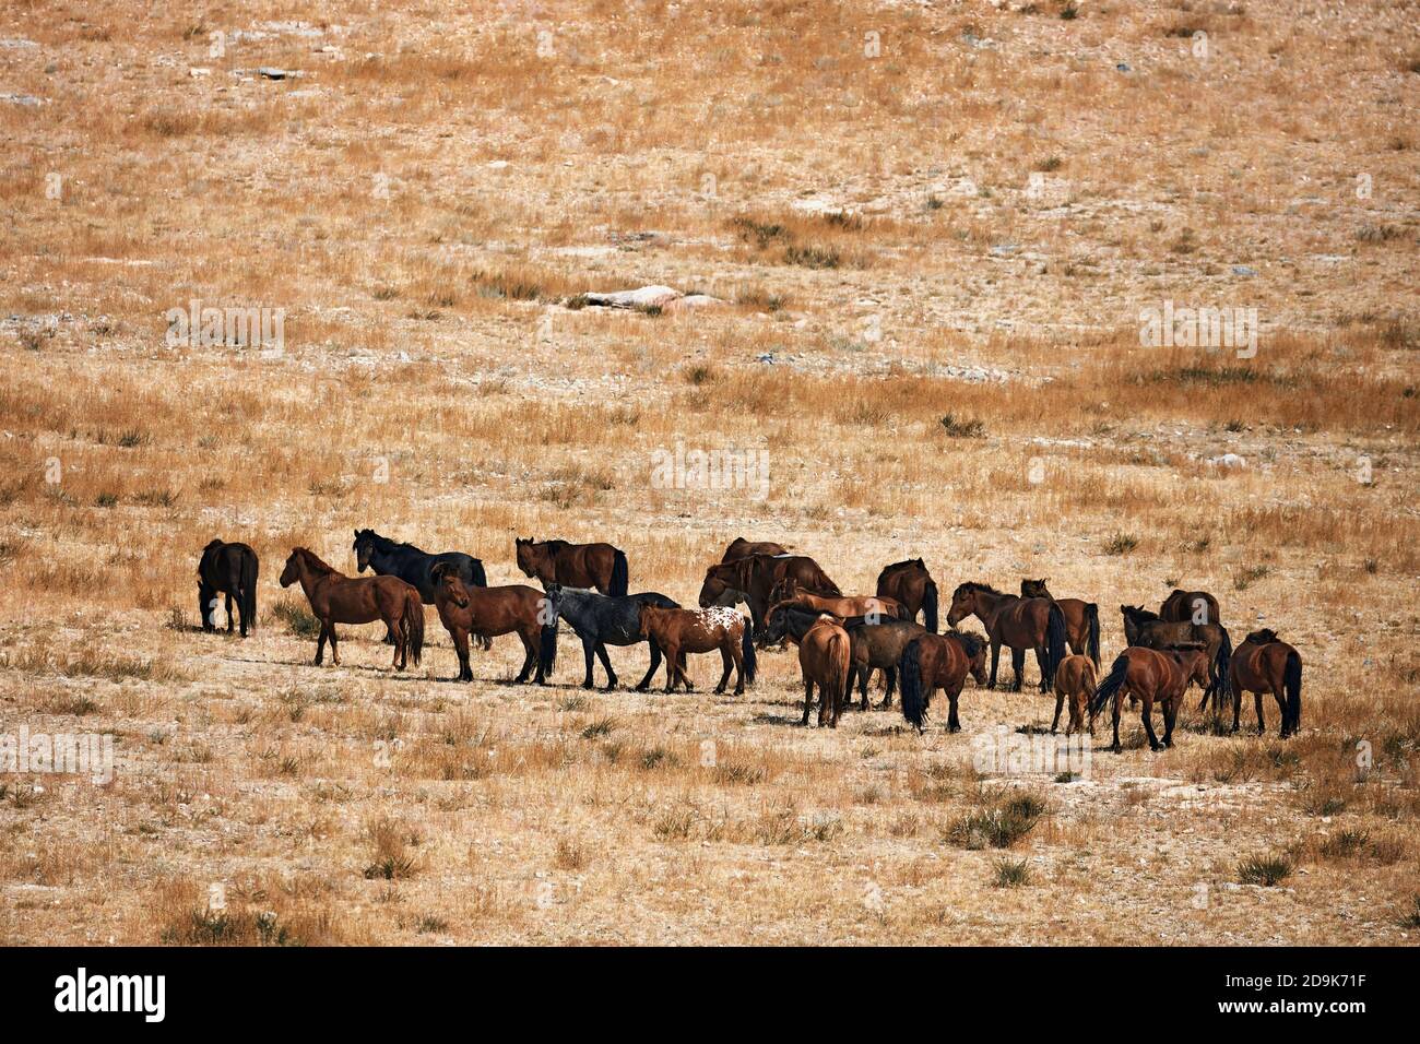
[[[471,682],[469,666],[469,635],[496,638],[517,632],[523,639],[523,669],[514,682],[527,682],[528,672],[537,666],[532,678],[538,685],[547,685],[547,675],[557,663],[557,632],[545,626],[545,595],[535,587],[510,584],[507,587],[479,587],[464,584],[459,567],[439,562],[430,570],[435,581],[435,605],[439,619],[453,639],[459,653],[459,680]],[[547,621],[550,622],[550,621]]]

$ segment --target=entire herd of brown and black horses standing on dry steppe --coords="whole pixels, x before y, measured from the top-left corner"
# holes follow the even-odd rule
[[[1203,690],[1198,710],[1213,700],[1214,714],[1233,703],[1233,732],[1240,727],[1242,697],[1251,692],[1258,734],[1265,732],[1262,697],[1271,695],[1281,714],[1281,736],[1301,729],[1302,660],[1274,631],[1251,632],[1237,648],[1223,626],[1218,601],[1207,591],[1174,589],[1157,612],[1122,605],[1127,648],[1100,678],[1099,607],[1078,598],[1055,598],[1045,580],[1022,580],[1021,592],[963,582],[951,594],[946,629],[939,631],[937,585],[922,558],[893,562],[878,577],[872,595],[845,595],[808,555],[772,541],[736,538],[711,564],[700,587],[699,607],[684,608],[657,591],[630,594],[626,554],[605,543],[562,540],[514,541],[517,565],[537,580],[488,585],[483,562],[460,551],[429,554],[373,530],[355,530],[352,551],[358,572],[348,577],[304,547],[293,548],[281,571],[283,588],[300,584],[320,624],[315,663],[339,663],[337,624],[382,621],[385,641],[395,646],[393,668],[419,663],[425,643],[425,605],[433,605],[453,639],[459,680],[473,680],[470,641],[491,648],[501,635],[523,642],[518,683],[544,685],[557,665],[562,624],[582,642],[586,689],[595,685],[595,663],[606,673],[606,689],[618,685],[606,646],[646,643],[650,665],[635,686],[645,692],[665,660],[666,692],[694,686],[686,673],[690,653],[720,653],[723,693],[734,675],[743,695],[757,673],[757,648],[791,642],[798,648],[804,683],[802,724],[818,705],[818,724],[836,726],[858,689],[868,710],[872,672],[880,672],[890,707],[899,693],[903,717],[919,732],[940,690],[949,705],[947,730],[958,732],[958,699],[970,676],[994,689],[1001,648],[1011,653],[1010,689],[1020,692],[1025,658],[1035,656],[1041,692],[1055,696],[1051,732],[1068,707],[1065,734],[1095,733],[1095,719],[1110,707],[1112,750],[1120,750],[1119,722],[1126,699],[1142,705],[1140,717],[1152,750],[1173,746],[1173,730],[1184,695]],[[199,608],[204,631],[217,622],[217,595],[226,595],[227,632],[233,601],[241,635],[256,625],[257,554],[247,544],[213,540],[197,567]],[[736,608],[746,604],[750,618]],[[919,616],[922,622],[919,622]],[[984,635],[958,629],[976,616]],[[990,665],[987,652],[990,651]],[[1163,716],[1162,739],[1153,710]]]

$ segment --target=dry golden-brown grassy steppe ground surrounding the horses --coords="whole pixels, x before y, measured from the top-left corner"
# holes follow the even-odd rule
[[[0,940],[1416,939],[1416,3],[185,7],[0,11],[0,732],[118,751],[0,777]],[[648,284],[720,303],[578,307]],[[283,351],[172,344],[193,300]],[[1143,347],[1164,303],[1255,355]],[[767,496],[657,487],[677,442]],[[1304,732],[1194,693],[1167,753],[981,774],[1052,700],[801,729],[792,651],[584,693],[565,636],[459,685],[432,611],[408,675],[376,626],[318,669],[275,580],[362,526],[496,584],[605,538],[683,602],[736,535],[1047,575],[1106,666],[1207,588],[1301,649]],[[213,535],[246,641],[195,629]]]

